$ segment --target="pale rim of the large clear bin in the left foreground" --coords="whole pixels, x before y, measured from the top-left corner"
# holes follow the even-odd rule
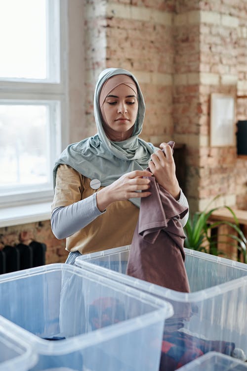
[[[65,347],[67,353],[70,353],[73,350],[82,349],[82,347],[87,348],[88,346],[94,345],[95,342],[98,341],[98,339],[104,339],[103,341],[106,341],[112,339],[116,335],[119,336],[120,334],[125,334],[129,332],[129,330],[133,330],[133,328],[136,330],[142,328],[144,325],[152,325],[159,321],[165,322],[167,318],[172,317],[172,315],[174,314],[172,305],[163,299],[156,298],[154,301],[154,297],[149,293],[139,291],[134,287],[127,286],[121,282],[116,282],[116,280],[110,279],[108,277],[97,275],[96,273],[90,272],[88,270],[83,272],[80,267],[72,266],[65,263],[48,264],[46,266],[7,273],[2,275],[4,276],[3,279],[0,278],[0,284],[9,280],[22,279],[31,277],[33,275],[39,275],[45,272],[61,270],[76,273],[77,275],[86,277],[88,279],[92,278],[100,284],[105,284],[108,287],[110,286],[115,291],[120,291],[121,293],[123,293],[124,290],[126,295],[132,296],[136,300],[139,299],[153,307],[153,311],[114,325],[103,327],[89,333],[70,337],[58,342],[51,342],[49,340],[41,339],[39,336],[0,316],[3,327],[8,328],[9,331],[13,331],[13,333],[15,333],[16,336],[20,337],[21,339],[25,339],[25,341],[40,354],[64,354]],[[37,346],[39,347],[39,349],[37,348]]]

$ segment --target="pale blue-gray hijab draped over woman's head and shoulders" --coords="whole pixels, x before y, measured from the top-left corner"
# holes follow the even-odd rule
[[[138,90],[138,112],[134,129],[131,137],[123,141],[112,141],[107,138],[99,107],[100,91],[104,83],[115,75],[132,77]],[[125,173],[146,169],[155,147],[152,143],[147,143],[145,140],[138,138],[142,131],[144,115],[145,103],[136,78],[130,72],[121,68],[108,68],[102,71],[94,92],[94,117],[97,134],[68,145],[62,152],[53,169],[54,187],[57,167],[60,164],[71,166],[89,179],[100,180],[103,186],[112,184]],[[131,198],[130,201],[136,206],[140,206],[140,198]]]

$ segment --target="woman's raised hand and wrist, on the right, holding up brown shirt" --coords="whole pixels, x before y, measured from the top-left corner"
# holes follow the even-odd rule
[[[162,185],[177,200],[180,196],[180,187],[175,174],[172,149],[167,143],[161,143],[160,147],[164,152],[158,149],[153,153],[148,165],[159,185]]]

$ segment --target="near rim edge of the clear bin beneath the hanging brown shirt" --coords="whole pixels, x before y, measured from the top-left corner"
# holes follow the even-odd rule
[[[124,275],[123,273],[112,271],[105,267],[100,267],[96,264],[92,264],[85,260],[82,260],[81,257],[76,258],[76,265],[78,267],[84,268],[86,270],[92,270],[92,266],[94,267],[94,271],[98,274],[109,277],[111,276],[118,282],[123,282],[131,287],[136,287],[139,290],[145,290],[145,292],[149,292],[151,294],[155,294],[159,297],[163,297],[165,299],[172,299],[181,302],[193,302],[193,301],[202,301],[215,296],[217,294],[223,294],[228,292],[231,289],[236,287],[240,287],[240,282],[247,285],[247,276],[232,279],[231,281],[221,283],[216,286],[208,287],[203,290],[195,291],[195,292],[179,292],[175,290],[171,290],[166,287],[162,287],[153,283],[146,282],[139,278],[130,277]],[[146,287],[145,287],[146,286]]]

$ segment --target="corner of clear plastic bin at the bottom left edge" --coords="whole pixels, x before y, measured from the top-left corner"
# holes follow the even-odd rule
[[[0,317],[0,371],[28,371],[36,362],[31,346],[11,333]]]

